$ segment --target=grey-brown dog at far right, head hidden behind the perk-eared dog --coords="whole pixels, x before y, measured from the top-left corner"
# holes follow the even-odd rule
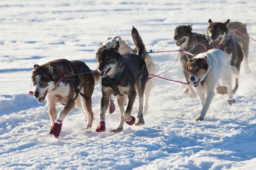
[[[235,29],[237,29],[242,34],[247,35],[247,37],[235,32]],[[234,39],[240,45],[240,47],[243,51],[245,73],[247,73],[247,74],[251,73],[251,70],[250,70],[249,64],[248,64],[248,52],[249,52],[250,38],[249,38],[249,34],[247,33],[246,24],[243,24],[241,22],[230,22],[230,23],[228,23],[228,30],[229,30],[230,34],[234,35]]]

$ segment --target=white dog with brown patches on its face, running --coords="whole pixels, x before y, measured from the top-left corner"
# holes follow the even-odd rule
[[[197,95],[202,106],[201,113],[196,120],[204,120],[215,95],[214,90],[219,79],[227,85],[228,103],[232,105],[235,102],[232,96],[231,75],[238,78],[239,72],[230,65],[225,52],[211,49],[198,54],[194,59],[190,59],[187,64],[191,83],[197,88]]]

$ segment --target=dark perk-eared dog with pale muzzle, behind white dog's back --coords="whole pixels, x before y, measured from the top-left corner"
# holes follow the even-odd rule
[[[228,31],[229,19],[222,22],[213,22],[211,19],[208,21],[207,34],[210,37],[210,42],[213,48],[224,51],[231,59],[230,64],[240,70],[240,65],[243,60],[243,52],[239,44],[234,40]],[[233,93],[236,93],[238,88],[238,78],[235,78],[235,87]]]

